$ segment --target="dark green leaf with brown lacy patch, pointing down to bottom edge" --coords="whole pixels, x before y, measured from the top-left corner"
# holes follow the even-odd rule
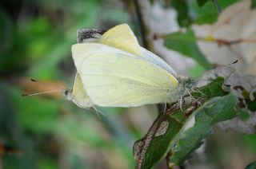
[[[174,136],[182,128],[182,125],[170,116],[158,116],[145,138],[134,144],[134,147],[139,148],[139,150],[135,150],[139,151],[137,168],[151,168],[158,163],[170,149],[170,143],[173,142]],[[139,144],[142,146],[139,147]]]

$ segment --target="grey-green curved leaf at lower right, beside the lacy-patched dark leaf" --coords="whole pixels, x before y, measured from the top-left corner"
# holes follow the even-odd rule
[[[229,94],[214,97],[198,108],[194,112],[194,126],[180,133],[178,143],[172,148],[170,163],[182,164],[201,145],[202,140],[210,135],[214,124],[237,116],[235,104],[236,97]]]

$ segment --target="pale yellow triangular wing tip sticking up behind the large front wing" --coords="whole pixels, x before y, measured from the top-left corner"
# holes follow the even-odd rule
[[[109,29],[106,33],[102,34],[102,37],[99,37],[98,43],[142,56],[138,40],[127,24],[114,26],[114,28]]]

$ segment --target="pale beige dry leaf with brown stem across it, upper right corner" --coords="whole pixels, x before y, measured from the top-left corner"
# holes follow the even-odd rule
[[[198,47],[210,62],[222,65],[237,60],[241,73],[256,73],[256,10],[250,0],[237,2],[220,14],[212,25],[194,25],[202,41]]]

